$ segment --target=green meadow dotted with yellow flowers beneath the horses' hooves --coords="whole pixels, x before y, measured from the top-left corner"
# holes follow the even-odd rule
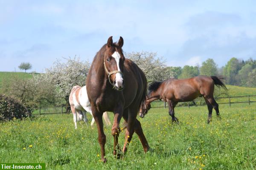
[[[143,153],[133,136],[128,153],[113,157],[111,127],[107,136],[107,163],[100,161],[96,125],[78,123],[73,116],[46,115],[0,124],[0,162],[46,163],[47,169],[256,169],[256,103],[220,105],[222,120],[213,114],[207,125],[207,107],[175,109],[180,125],[172,124],[168,110],[152,108],[141,119],[152,150]],[[88,115],[88,114],[87,114]],[[110,114],[113,120],[113,113]],[[88,116],[90,119],[91,116]],[[124,132],[119,137],[124,143]]]

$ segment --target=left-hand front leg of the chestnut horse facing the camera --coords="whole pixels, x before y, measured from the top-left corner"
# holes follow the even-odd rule
[[[101,160],[103,162],[106,162],[107,159],[105,159],[105,143],[106,143],[106,135],[103,130],[103,122],[102,122],[102,113],[98,112],[96,108],[92,107],[92,113],[93,117],[95,119],[97,129],[98,129],[98,141],[99,145],[101,147]]]

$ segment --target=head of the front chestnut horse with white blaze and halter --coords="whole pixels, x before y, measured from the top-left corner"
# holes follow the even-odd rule
[[[122,37],[120,37],[118,43],[113,43],[112,36],[109,37],[104,55],[104,67],[108,74],[108,79],[118,91],[124,88],[123,73],[125,57],[122,53],[123,44],[124,40]]]

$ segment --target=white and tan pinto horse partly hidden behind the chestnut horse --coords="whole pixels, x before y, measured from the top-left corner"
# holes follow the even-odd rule
[[[77,129],[76,122],[84,119],[84,122],[88,125],[88,120],[86,117],[86,112],[89,112],[92,116],[92,111],[90,107],[90,102],[88,100],[86,86],[80,87],[76,85],[72,88],[69,102],[71,111],[73,113],[73,120],[75,123],[75,128]],[[108,117],[108,112],[103,113],[103,118],[107,125],[111,125],[111,122]],[[91,125],[95,122],[94,118],[92,119]]]

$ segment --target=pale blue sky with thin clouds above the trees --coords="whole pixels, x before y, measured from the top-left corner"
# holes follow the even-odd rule
[[[108,37],[157,52],[167,66],[256,59],[255,0],[0,0],[0,71],[44,72],[56,59],[92,62]],[[64,59],[63,59],[64,60]]]

